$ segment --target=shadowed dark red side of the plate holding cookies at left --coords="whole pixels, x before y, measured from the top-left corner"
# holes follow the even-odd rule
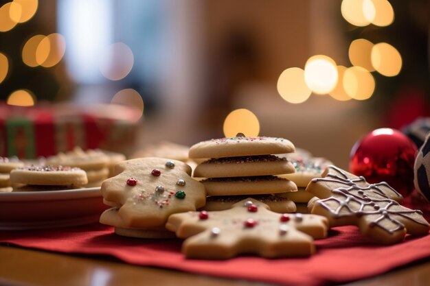
[[[91,224],[106,208],[100,187],[0,193],[0,230]]]

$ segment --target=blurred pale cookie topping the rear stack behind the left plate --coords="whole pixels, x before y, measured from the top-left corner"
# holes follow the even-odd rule
[[[109,157],[101,150],[82,150],[75,147],[70,152],[60,152],[56,156],[47,158],[47,165],[78,167],[85,171],[108,167]]]

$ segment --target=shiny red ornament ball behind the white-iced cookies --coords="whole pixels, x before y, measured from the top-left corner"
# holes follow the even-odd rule
[[[416,154],[416,145],[402,132],[376,129],[352,147],[350,172],[370,183],[387,182],[406,197],[414,189]]]

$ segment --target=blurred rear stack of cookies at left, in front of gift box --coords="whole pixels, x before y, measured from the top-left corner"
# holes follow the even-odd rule
[[[100,187],[102,182],[113,176],[113,166],[125,160],[123,154],[104,152],[102,150],[82,150],[75,147],[72,151],[60,152],[47,158],[46,163],[52,166],[78,167],[87,172],[88,184],[85,187]]]

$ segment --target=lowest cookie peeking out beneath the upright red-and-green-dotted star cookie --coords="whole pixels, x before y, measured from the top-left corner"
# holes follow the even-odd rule
[[[151,228],[130,228],[126,226],[120,215],[118,208],[109,208],[100,216],[100,223],[115,227],[115,233],[124,237],[139,237],[139,238],[172,238],[176,237],[174,233],[166,230],[164,226],[154,226]]]

